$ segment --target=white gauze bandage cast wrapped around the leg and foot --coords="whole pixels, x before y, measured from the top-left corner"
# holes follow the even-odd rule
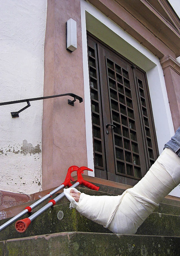
[[[180,183],[180,157],[165,149],[147,174],[134,187],[118,196],[89,196],[81,193],[77,203],[64,189],[70,206],[114,233],[134,234],[159,202]],[[77,189],[73,188],[77,191]]]

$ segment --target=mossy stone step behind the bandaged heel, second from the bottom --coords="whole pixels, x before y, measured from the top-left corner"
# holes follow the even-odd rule
[[[24,215],[21,219],[28,217]],[[62,219],[60,219],[63,216]],[[1,220],[3,224],[6,220]],[[164,213],[152,213],[138,229],[140,235],[180,236],[180,216]],[[14,223],[0,232],[0,240],[44,235],[64,231],[111,233],[108,229],[80,215],[75,209],[69,209],[69,202],[55,205],[32,221],[24,233],[15,230]]]

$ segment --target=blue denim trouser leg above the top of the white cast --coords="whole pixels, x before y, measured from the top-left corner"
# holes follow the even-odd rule
[[[180,127],[177,129],[174,136],[172,136],[171,140],[169,140],[165,146],[165,148],[171,149],[176,155],[180,157]]]

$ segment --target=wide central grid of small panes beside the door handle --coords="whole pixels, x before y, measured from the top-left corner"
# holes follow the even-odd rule
[[[113,129],[116,173],[141,178],[129,73],[109,59],[106,62],[111,118],[116,125]]]

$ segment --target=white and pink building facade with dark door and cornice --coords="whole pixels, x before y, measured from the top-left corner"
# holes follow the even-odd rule
[[[0,106],[1,191],[59,186],[71,165],[135,185],[180,126],[179,10],[166,0],[3,5],[1,102],[65,93],[83,102],[32,101],[16,118],[25,103]],[[66,49],[70,18],[74,52]]]

